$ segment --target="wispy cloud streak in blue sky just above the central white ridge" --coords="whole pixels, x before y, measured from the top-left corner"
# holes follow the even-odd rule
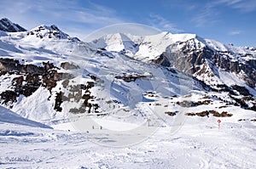
[[[177,29],[177,26],[172,24],[169,20],[166,20],[159,14],[149,14],[149,24],[162,30],[171,31],[172,33],[180,33],[183,30]]]

